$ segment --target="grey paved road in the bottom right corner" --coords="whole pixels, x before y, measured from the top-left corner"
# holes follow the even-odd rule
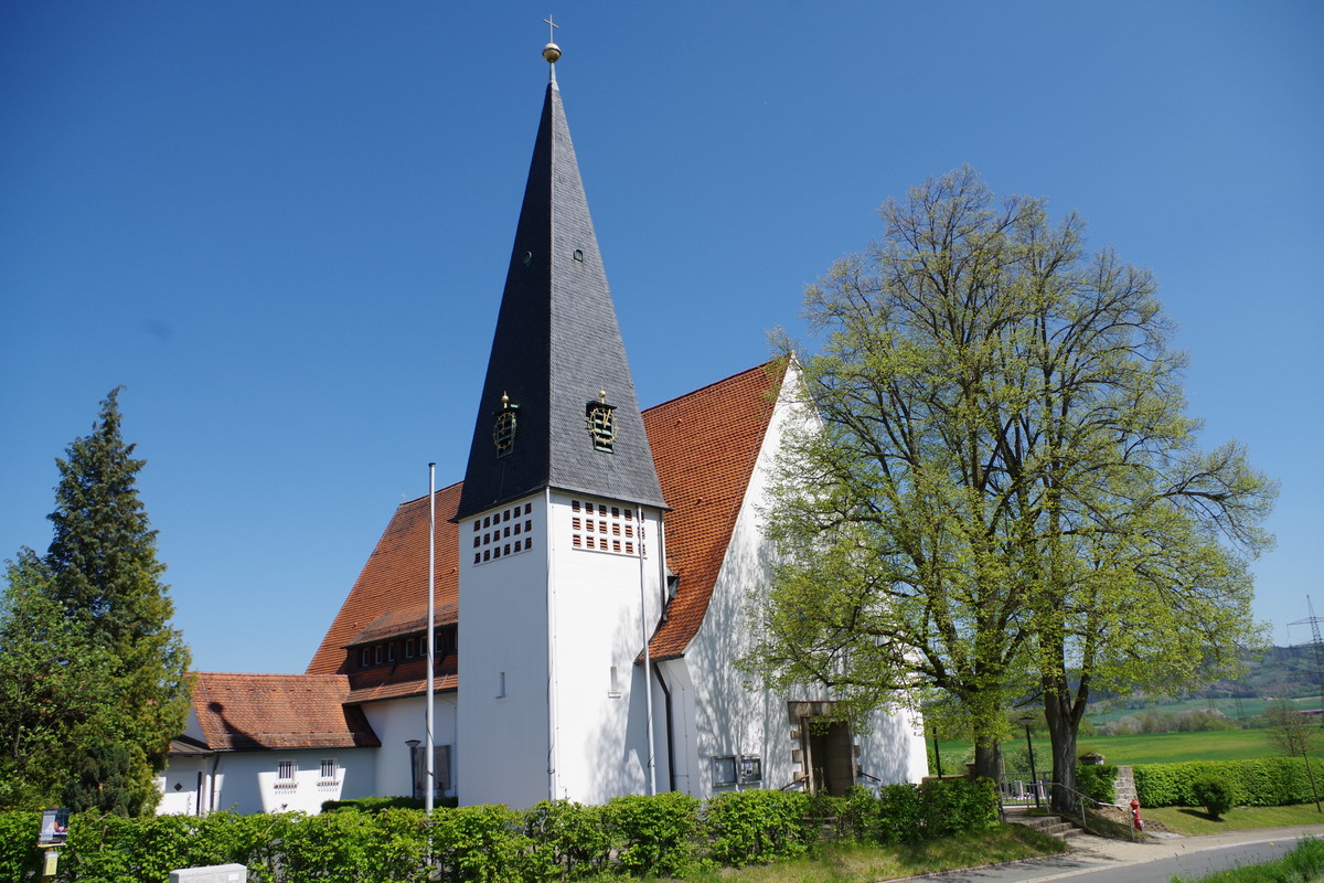
[[[1156,843],[1124,843],[1099,837],[1072,838],[1072,851],[994,867],[932,874],[937,883],[1169,883],[1173,874],[1198,880],[1239,864],[1258,864],[1290,853],[1303,837],[1324,837],[1324,825],[1182,837]]]

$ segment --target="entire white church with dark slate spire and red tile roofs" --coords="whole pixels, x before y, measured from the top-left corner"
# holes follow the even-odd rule
[[[748,590],[780,440],[810,418],[760,365],[641,410],[552,64],[463,481],[402,503],[302,675],[201,673],[162,813],[303,810],[426,788],[545,798],[919,781],[922,728],[810,727],[747,687]]]

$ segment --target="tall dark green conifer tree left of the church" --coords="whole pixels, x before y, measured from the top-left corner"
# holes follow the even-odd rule
[[[156,805],[152,778],[184,728],[191,682],[188,647],[171,627],[173,604],[162,581],[156,531],[138,498],[144,461],[120,434],[118,393],[102,402],[91,434],[56,461],[54,536],[41,584],[64,614],[70,634],[62,639],[102,661],[114,686],[94,721],[69,721],[71,741],[53,759],[64,770],[65,800],[75,810],[135,814]],[[115,774],[99,777],[107,757]]]

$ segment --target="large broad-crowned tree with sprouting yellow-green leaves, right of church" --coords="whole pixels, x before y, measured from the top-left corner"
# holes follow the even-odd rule
[[[1072,809],[1092,690],[1180,687],[1259,641],[1246,561],[1275,486],[1235,442],[1201,449],[1153,277],[1078,216],[969,168],[880,216],[806,290],[822,347],[792,377],[817,425],[781,451],[785,557],[745,665],[857,716],[951,696],[988,776],[1005,708],[1038,695]]]

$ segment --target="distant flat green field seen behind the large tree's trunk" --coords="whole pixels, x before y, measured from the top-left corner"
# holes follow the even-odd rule
[[[1034,739],[1046,752],[1046,736]],[[1005,749],[1021,748],[1022,739],[1005,743]],[[951,774],[970,751],[969,743],[944,741],[943,772]],[[1178,760],[1249,760],[1282,755],[1263,729],[1215,729],[1196,733],[1155,733],[1149,736],[1091,736],[1082,739],[1078,753],[1099,752],[1108,764],[1169,764]],[[1038,753],[1038,752],[1035,752]]]

